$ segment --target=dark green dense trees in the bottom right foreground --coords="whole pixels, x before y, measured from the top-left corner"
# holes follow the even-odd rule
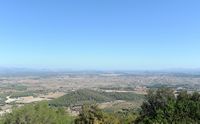
[[[141,109],[136,123],[197,124],[200,123],[200,94],[181,91],[175,97],[171,89],[151,90]]]

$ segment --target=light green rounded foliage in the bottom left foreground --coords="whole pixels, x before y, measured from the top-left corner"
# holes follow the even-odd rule
[[[42,102],[14,109],[6,114],[0,124],[71,124],[73,118],[62,108],[51,108]]]

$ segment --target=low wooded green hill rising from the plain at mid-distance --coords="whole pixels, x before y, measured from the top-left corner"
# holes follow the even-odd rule
[[[138,95],[131,92],[102,92],[89,89],[82,89],[71,92],[60,98],[50,101],[51,106],[73,106],[82,105],[84,103],[103,103],[116,100],[134,101],[143,99],[143,95]]]

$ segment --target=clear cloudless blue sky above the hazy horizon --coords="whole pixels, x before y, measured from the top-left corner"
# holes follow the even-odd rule
[[[199,0],[2,0],[0,66],[200,68]]]

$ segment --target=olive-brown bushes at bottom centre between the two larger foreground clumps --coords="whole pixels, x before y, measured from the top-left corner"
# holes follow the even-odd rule
[[[81,113],[75,119],[75,124],[130,124],[136,117],[132,111],[106,113],[97,105],[83,105]]]

